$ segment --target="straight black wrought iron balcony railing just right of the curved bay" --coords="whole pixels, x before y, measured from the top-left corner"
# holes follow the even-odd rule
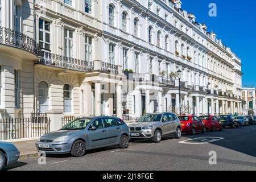
[[[35,64],[51,65],[53,67],[72,69],[82,72],[91,70],[89,61],[56,55],[55,53],[44,51],[42,51],[42,59],[35,61]]]

